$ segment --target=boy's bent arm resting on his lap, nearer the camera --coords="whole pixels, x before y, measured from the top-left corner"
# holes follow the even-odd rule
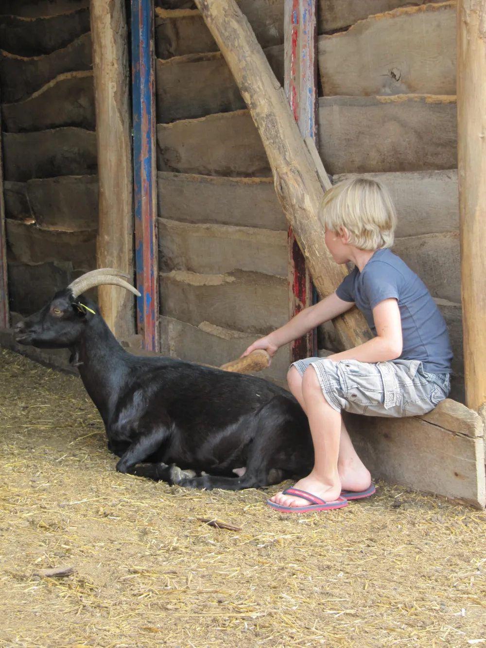
[[[360,344],[354,349],[328,356],[330,360],[358,360],[359,362],[387,362],[402,354],[402,319],[397,299],[380,301],[373,308],[376,338]]]

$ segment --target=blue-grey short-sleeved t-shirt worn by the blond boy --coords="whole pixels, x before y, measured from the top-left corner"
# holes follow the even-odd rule
[[[356,266],[336,295],[354,301],[375,336],[373,308],[384,299],[397,299],[403,336],[400,360],[421,360],[427,373],[451,373],[452,351],[444,318],[421,279],[389,249],[378,249],[363,272]]]

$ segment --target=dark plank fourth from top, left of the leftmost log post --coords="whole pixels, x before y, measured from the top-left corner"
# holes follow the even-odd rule
[[[2,104],[3,128],[10,133],[78,126],[95,130],[95,98],[91,71],[56,76],[31,97]]]

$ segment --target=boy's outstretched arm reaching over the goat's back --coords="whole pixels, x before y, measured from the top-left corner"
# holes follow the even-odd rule
[[[345,313],[353,306],[353,301],[343,301],[334,292],[314,306],[301,310],[295,318],[292,318],[280,329],[274,330],[264,338],[253,342],[241,357],[248,356],[255,349],[265,349],[272,357],[279,347],[292,340],[297,340],[297,338],[305,335],[310,330],[315,329],[319,324],[337,318],[338,315]]]

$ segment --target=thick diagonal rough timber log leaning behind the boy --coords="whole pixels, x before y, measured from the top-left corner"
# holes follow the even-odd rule
[[[314,284],[325,297],[336,290],[347,271],[334,263],[325,246],[324,228],[318,219],[323,189],[284,90],[234,0],[196,0],[196,4],[259,130],[284,213],[308,261]],[[370,336],[364,317],[356,309],[336,320],[336,329],[348,348]]]

